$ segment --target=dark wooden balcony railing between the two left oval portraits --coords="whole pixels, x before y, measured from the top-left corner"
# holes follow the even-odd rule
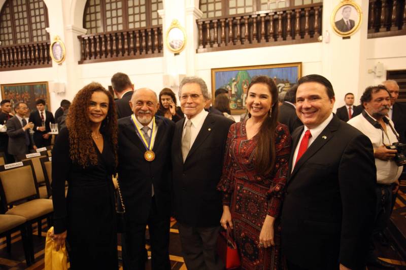
[[[162,26],[78,36],[79,64],[162,56]]]

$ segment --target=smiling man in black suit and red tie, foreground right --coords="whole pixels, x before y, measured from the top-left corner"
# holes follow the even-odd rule
[[[289,270],[365,269],[376,207],[370,140],[333,113],[331,83],[299,79],[282,208],[282,248]]]

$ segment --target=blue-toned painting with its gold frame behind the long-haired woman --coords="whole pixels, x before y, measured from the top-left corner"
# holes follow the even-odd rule
[[[231,114],[246,112],[245,99],[251,78],[266,75],[272,78],[279,93],[289,90],[301,77],[301,62],[258,66],[212,68],[212,97],[223,88],[228,91]]]

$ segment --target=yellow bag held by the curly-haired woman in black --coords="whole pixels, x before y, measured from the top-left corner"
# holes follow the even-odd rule
[[[54,248],[55,241],[52,241],[50,237],[53,231],[54,227],[51,227],[47,232],[45,242],[45,270],[67,270],[66,246],[63,245],[56,251]]]

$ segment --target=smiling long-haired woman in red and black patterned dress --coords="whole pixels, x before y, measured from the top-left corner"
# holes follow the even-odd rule
[[[241,269],[281,269],[280,213],[291,138],[278,123],[278,90],[267,76],[248,88],[247,121],[231,125],[223,175],[220,223],[233,228]]]

